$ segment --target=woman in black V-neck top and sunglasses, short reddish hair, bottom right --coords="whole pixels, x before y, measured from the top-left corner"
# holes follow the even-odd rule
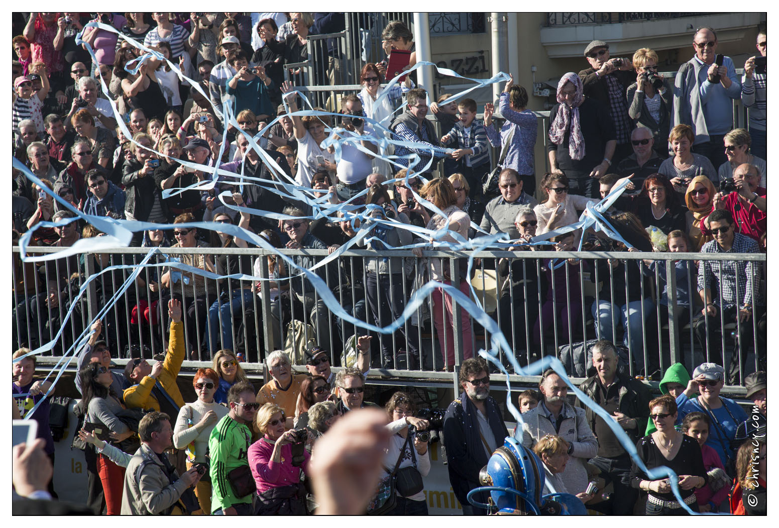
[[[695,490],[702,488],[708,481],[703,455],[695,438],[676,431],[674,423],[679,416],[673,396],[665,394],[649,403],[650,420],[657,431],[641,438],[636,450],[648,470],[666,466],[677,475],[679,495],[682,502],[693,512],[698,512]],[[647,491],[646,514],[648,516],[684,516],[687,515],[679,498],[671,490],[669,478],[652,480],[640,470],[636,462],[630,469],[630,485],[641,491]]]

